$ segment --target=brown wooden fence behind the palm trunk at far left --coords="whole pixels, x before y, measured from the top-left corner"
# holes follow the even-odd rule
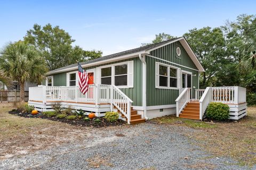
[[[20,91],[0,90],[0,103],[20,101]],[[25,101],[28,101],[28,91],[25,91]]]

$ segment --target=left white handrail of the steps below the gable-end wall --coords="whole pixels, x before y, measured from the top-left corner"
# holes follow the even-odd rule
[[[179,117],[182,109],[187,105],[190,100],[190,88],[185,88],[178,98],[175,100],[176,102],[176,116]]]

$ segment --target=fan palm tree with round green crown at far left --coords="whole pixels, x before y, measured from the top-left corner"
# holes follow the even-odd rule
[[[38,50],[24,41],[7,44],[0,52],[0,69],[20,85],[20,100],[25,99],[25,81],[41,83],[47,67]]]

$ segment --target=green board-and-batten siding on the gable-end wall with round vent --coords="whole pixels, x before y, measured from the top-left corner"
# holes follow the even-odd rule
[[[176,48],[180,47],[181,55],[178,57],[176,54]],[[150,52],[150,55],[162,58],[163,60],[170,61],[173,63],[177,63],[183,66],[190,67],[192,69],[196,69],[197,67],[194,62],[191,60],[186,50],[182,47],[179,42],[175,42],[164,47],[155,49]],[[199,72],[196,70],[188,69],[186,67],[178,66],[175,64],[171,64],[169,62],[164,62],[162,60],[158,60],[156,58],[152,58],[150,56],[146,56],[147,63],[147,106],[159,106],[159,105],[173,105],[175,103],[175,99],[179,96],[179,90],[177,89],[158,89],[155,87],[155,66],[156,62],[164,63],[167,65],[172,65],[175,67],[179,67],[181,70],[189,71],[192,73],[192,89],[193,86],[198,89],[198,74]],[[194,75],[196,74],[196,75]],[[179,79],[178,79],[179,80]],[[181,81],[181,79],[180,79]],[[193,91],[193,98],[195,98],[195,89]]]

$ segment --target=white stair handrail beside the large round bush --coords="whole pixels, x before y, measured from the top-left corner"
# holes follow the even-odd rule
[[[199,119],[202,121],[204,113],[206,111],[207,106],[211,103],[212,101],[212,88],[207,87],[199,100]]]

